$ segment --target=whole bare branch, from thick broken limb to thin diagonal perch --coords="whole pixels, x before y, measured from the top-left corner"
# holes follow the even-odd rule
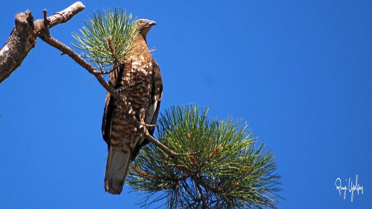
[[[145,128],[145,126],[147,125],[140,123],[135,118],[134,111],[132,107],[130,107],[130,105],[125,102],[125,98],[123,98],[121,94],[112,86],[110,86],[102,77],[102,74],[106,74],[108,72],[97,70],[93,65],[89,64],[89,62],[83,60],[70,47],[62,44],[60,41],[50,36],[50,28],[58,25],[59,23],[67,22],[83,9],[85,9],[84,4],[80,1],[77,1],[65,10],[57,12],[54,15],[49,16],[48,18],[46,18],[47,10],[44,10],[44,19],[39,19],[35,22],[33,22],[33,17],[29,10],[27,10],[26,13],[17,13],[16,25],[13,29],[13,32],[4,47],[0,50],[0,83],[7,77],[9,77],[9,75],[12,74],[17,69],[17,67],[20,66],[24,58],[27,56],[28,52],[33,47],[35,47],[36,37],[39,37],[43,41],[62,51],[63,54],[67,54],[68,56],[73,58],[73,60],[81,65],[81,67],[85,68],[89,71],[89,73],[93,74],[97,78],[99,83],[107,91],[109,91],[110,94],[115,97],[115,99],[119,101],[125,112],[127,112],[130,116],[132,122],[137,126],[137,129],[142,130],[143,135],[150,142],[167,153],[170,158],[175,160],[174,156],[176,155],[176,153],[168,149],[165,145],[163,145],[161,142],[159,142],[148,133],[147,128]]]

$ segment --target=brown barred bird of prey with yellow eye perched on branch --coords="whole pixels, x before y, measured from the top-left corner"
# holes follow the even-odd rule
[[[130,59],[121,64],[118,70],[110,73],[109,83],[119,90],[126,102],[130,102],[139,122],[155,125],[163,96],[163,80],[159,66],[147,47],[146,35],[156,23],[139,19],[134,24],[137,25],[140,35],[132,42]],[[137,157],[141,147],[148,144],[147,139],[141,136],[125,115],[126,112],[118,101],[107,92],[102,135],[109,149],[105,189],[111,194],[122,192],[129,164]],[[155,126],[147,126],[147,129],[153,135]]]

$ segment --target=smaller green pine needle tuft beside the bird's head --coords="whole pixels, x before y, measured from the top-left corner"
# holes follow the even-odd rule
[[[100,70],[115,64],[124,63],[129,59],[132,50],[132,41],[139,34],[135,24],[137,17],[132,21],[132,14],[126,16],[125,10],[115,7],[99,11],[96,10],[80,29],[82,35],[73,32],[77,42],[73,46],[84,51],[82,57],[96,64]]]

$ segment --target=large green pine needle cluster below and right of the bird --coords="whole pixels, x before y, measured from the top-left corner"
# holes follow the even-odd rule
[[[131,165],[126,184],[147,191],[143,206],[167,198],[169,209],[208,208],[202,199],[213,209],[276,208],[281,189],[273,151],[257,146],[245,122],[210,120],[207,112],[196,105],[173,107],[158,120],[159,141],[182,154],[178,166],[192,175],[149,144]]]

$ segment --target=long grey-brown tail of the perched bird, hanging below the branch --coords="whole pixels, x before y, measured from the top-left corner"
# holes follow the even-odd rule
[[[121,150],[109,149],[105,172],[105,189],[111,194],[120,194],[128,173],[131,152],[122,154]]]

